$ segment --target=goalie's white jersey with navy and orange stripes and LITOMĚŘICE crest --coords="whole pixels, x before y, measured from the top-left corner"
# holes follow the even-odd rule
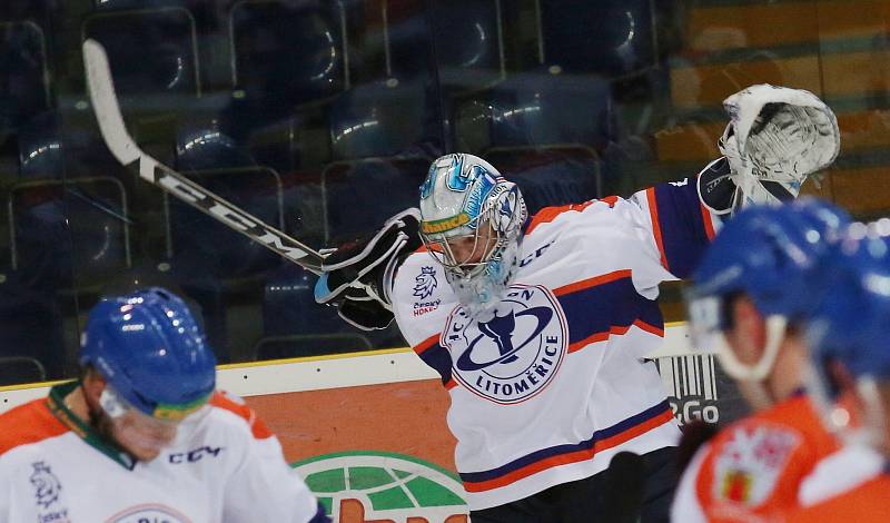
[[[694,179],[542,209],[494,317],[471,319],[423,249],[394,283],[398,326],[451,394],[471,510],[589,477],[622,451],[676,444],[655,365],[657,285],[686,276],[718,219]]]

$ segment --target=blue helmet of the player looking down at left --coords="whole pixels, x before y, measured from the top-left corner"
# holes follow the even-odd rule
[[[158,287],[99,302],[81,338],[80,365],[160,420],[182,420],[216,387],[216,357],[204,333],[185,302]]]

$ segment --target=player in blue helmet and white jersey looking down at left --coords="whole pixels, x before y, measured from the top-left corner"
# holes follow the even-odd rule
[[[102,299],[79,361],[0,415],[0,521],[329,521],[174,294]]]

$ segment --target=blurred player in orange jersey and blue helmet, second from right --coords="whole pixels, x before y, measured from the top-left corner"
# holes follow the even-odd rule
[[[805,394],[802,322],[824,292],[821,263],[849,224],[843,210],[818,199],[754,207],[729,221],[705,251],[686,292],[693,345],[716,349],[754,413],[699,448],[678,489],[673,520],[779,517],[797,506],[817,462],[837,450]],[[767,456],[760,451],[770,444],[775,455]],[[750,474],[750,495],[725,486],[738,471]]]

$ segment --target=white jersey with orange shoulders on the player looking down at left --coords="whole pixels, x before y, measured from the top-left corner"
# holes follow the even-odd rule
[[[322,522],[277,438],[222,394],[148,463],[105,444],[63,404],[77,386],[0,416],[0,522]]]

